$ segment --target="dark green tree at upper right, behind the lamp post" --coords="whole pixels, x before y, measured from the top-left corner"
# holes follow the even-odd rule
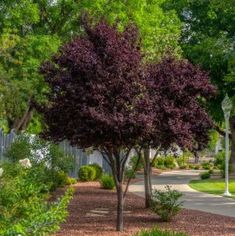
[[[209,71],[218,94],[207,103],[215,123],[224,121],[221,101],[227,93],[233,100],[231,140],[235,171],[235,1],[169,0],[167,10],[176,10],[184,23],[181,35],[183,54]],[[218,130],[218,129],[217,129]]]

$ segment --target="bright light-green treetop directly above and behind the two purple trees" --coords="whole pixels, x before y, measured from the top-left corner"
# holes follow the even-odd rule
[[[82,9],[99,20],[118,23],[122,30],[128,23],[137,25],[142,51],[148,60],[161,59],[166,52],[179,55],[181,22],[174,10],[164,11],[165,0],[81,0]]]

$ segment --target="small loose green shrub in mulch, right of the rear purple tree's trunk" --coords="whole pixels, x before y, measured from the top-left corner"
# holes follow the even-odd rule
[[[155,190],[152,196],[151,209],[160,216],[163,221],[170,221],[179,211],[182,202],[179,199],[182,193],[171,190],[166,186],[166,191]]]

